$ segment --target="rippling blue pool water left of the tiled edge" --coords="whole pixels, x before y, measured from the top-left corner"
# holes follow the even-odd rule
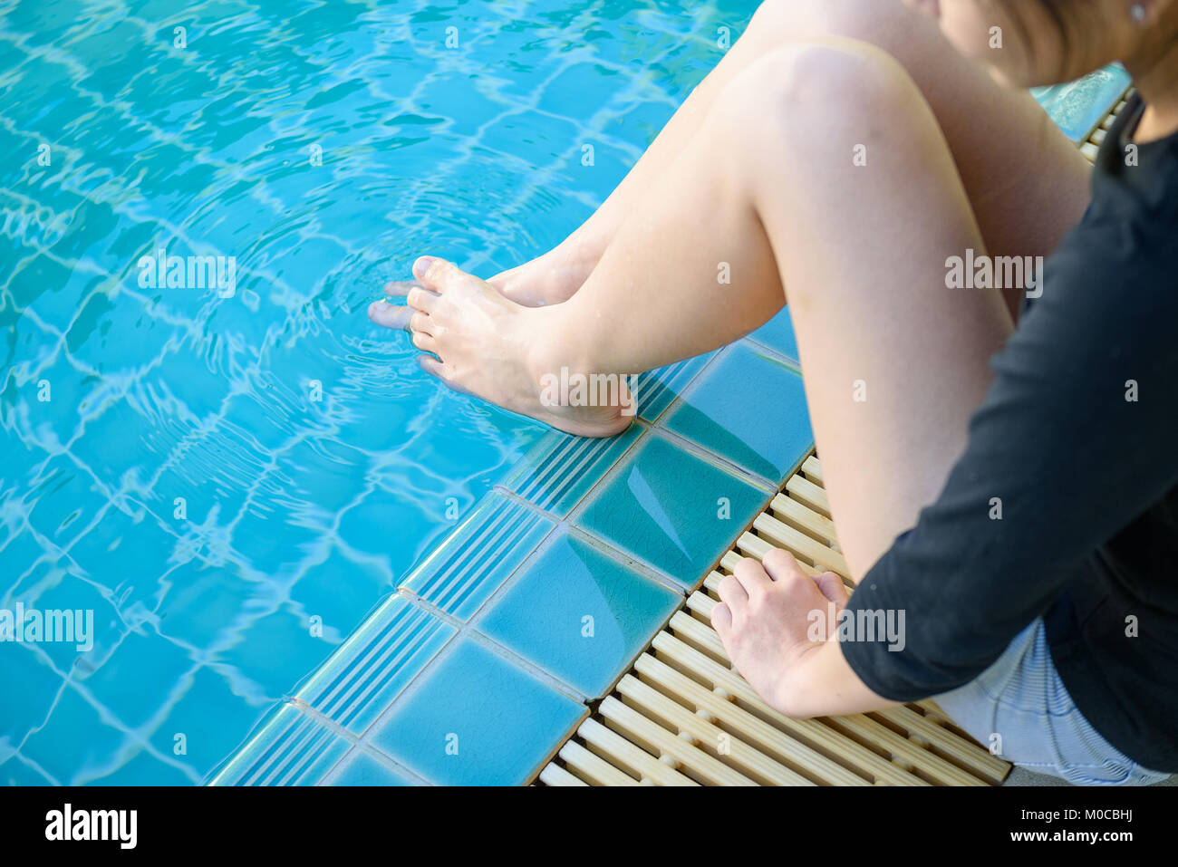
[[[201,781],[507,477],[368,303],[562,239],[754,6],[0,2],[0,609],[93,611],[0,643],[0,782]]]

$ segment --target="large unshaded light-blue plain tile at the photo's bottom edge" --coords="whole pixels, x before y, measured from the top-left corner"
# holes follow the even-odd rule
[[[470,638],[373,726],[376,748],[446,786],[519,786],[585,708]]]

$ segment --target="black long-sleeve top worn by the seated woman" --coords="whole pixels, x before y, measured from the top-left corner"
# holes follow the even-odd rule
[[[1043,615],[1080,713],[1178,772],[1178,134],[1133,145],[1143,110],[1101,146],[942,491],[852,597],[902,609],[905,647],[842,651],[913,701],[969,682]]]

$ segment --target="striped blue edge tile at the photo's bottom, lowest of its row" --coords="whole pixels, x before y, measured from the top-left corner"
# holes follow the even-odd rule
[[[213,777],[213,786],[313,786],[351,742],[284,702]]]

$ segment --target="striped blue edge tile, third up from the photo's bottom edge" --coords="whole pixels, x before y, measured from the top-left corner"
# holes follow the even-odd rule
[[[401,582],[438,609],[469,620],[552,529],[527,507],[491,494]]]

